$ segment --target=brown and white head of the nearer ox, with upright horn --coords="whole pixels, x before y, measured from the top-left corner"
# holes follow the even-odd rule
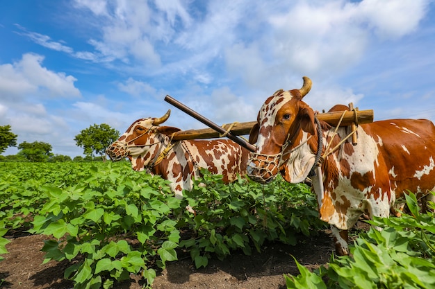
[[[249,159],[247,168],[249,177],[256,182],[270,182],[278,173],[283,173],[289,182],[302,182],[311,170],[314,159],[311,166],[311,159],[307,160],[303,171],[299,171],[299,177],[288,179],[283,166],[284,150],[288,152],[301,142],[301,130],[315,134],[314,112],[302,101],[311,89],[311,80],[306,76],[303,79],[301,89],[279,89],[258,112],[257,123],[249,134],[249,143],[256,143],[256,152]]]

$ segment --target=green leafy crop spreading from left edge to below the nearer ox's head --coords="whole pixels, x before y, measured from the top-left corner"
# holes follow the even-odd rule
[[[75,288],[110,288],[139,273],[151,286],[156,267],[177,260],[177,249],[188,250],[199,268],[211,256],[251,254],[269,240],[295,245],[297,234],[325,228],[315,195],[282,179],[263,186],[240,177],[226,185],[203,170],[178,200],[167,181],[126,162],[0,166],[3,227],[49,236],[44,262],[71,261],[65,278]]]

